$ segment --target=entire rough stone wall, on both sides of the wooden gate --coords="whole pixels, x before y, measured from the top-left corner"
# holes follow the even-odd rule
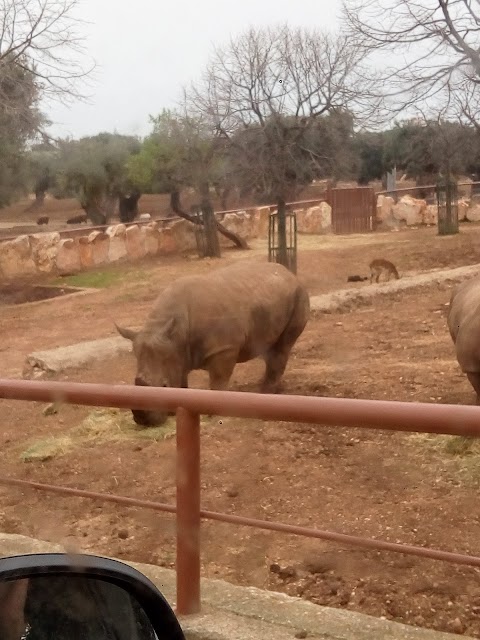
[[[459,219],[480,221],[480,201],[463,197],[458,203]],[[298,202],[293,205],[297,229],[301,234],[332,232],[332,210],[327,202]],[[245,240],[268,237],[272,207],[256,207],[226,213],[222,224]],[[389,196],[377,198],[376,228],[437,224],[437,205],[402,196],[398,202]],[[36,233],[0,243],[0,278],[12,279],[36,274],[67,275],[119,260],[138,260],[145,256],[170,255],[196,250],[194,225],[186,220],[157,221],[148,224],[117,224],[84,236],[62,237],[61,233]],[[221,245],[231,246],[220,235]]]

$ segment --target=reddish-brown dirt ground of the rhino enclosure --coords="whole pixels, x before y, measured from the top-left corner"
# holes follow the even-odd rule
[[[433,229],[301,237],[299,246],[299,277],[319,294],[351,286],[347,276],[366,274],[374,257],[393,260],[400,273],[480,262],[480,226],[443,238]],[[264,260],[265,253],[253,243],[252,251],[226,252],[220,262]],[[94,295],[2,307],[0,333],[8,339],[0,347],[0,375],[18,375],[32,350],[114,335],[113,321],[140,326],[168,282],[218,264],[190,257],[119,265],[62,279],[101,287]],[[450,291],[450,284],[436,284],[312,318],[287,368],[284,393],[473,404],[446,328]],[[130,383],[134,372],[126,355],[61,379]],[[232,388],[254,391],[261,374],[260,362],[239,365]],[[204,386],[206,379],[195,372],[190,382]],[[107,414],[62,406],[45,416],[43,404],[18,401],[1,407],[2,475],[174,501],[172,438],[130,430],[124,438],[82,439],[79,425],[93,415],[101,424]],[[131,422],[128,413],[121,416]],[[202,429],[205,509],[479,554],[480,458],[467,455],[462,440],[228,418],[206,420]],[[73,440],[49,459],[24,461],[26,451],[69,434]],[[0,529],[174,566],[173,519],[140,509],[0,489]],[[202,573],[480,637],[476,569],[206,522]]]

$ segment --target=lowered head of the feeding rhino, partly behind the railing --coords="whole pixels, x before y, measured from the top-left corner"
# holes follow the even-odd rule
[[[135,384],[142,387],[182,387],[184,363],[181,350],[175,340],[176,320],[172,318],[164,325],[148,330],[133,331],[115,325],[118,333],[131,340],[137,359]],[[132,409],[136,424],[153,427],[165,422],[166,411]]]

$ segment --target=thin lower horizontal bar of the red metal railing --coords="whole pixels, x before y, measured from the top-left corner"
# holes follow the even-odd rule
[[[77,496],[81,498],[90,498],[92,500],[101,500],[103,502],[114,502],[129,507],[141,507],[152,509],[154,511],[163,511],[167,513],[176,513],[176,507],[161,502],[152,502],[150,500],[140,500],[136,498],[127,498],[105,493],[96,493],[93,491],[84,491],[83,489],[71,489],[69,487],[60,487],[51,484],[42,484],[40,482],[32,482],[30,480],[18,480],[16,478],[0,477],[0,485],[16,486],[20,488],[36,489],[49,493],[57,493],[60,495]],[[391,551],[394,553],[403,553],[431,560],[442,560],[453,564],[468,565],[472,567],[480,567],[480,557],[468,556],[461,553],[452,553],[450,551],[441,551],[439,549],[428,549],[426,547],[418,547],[414,545],[400,544],[397,542],[386,542],[384,540],[374,540],[372,538],[363,538],[360,536],[352,536],[345,533],[337,533],[334,531],[322,531],[320,529],[310,529],[308,527],[300,527],[296,525],[283,524],[280,522],[269,522],[267,520],[257,520],[255,518],[245,518],[243,516],[234,516],[226,513],[218,513],[216,511],[200,511],[200,516],[204,520],[216,520],[227,524],[235,524],[245,527],[253,527],[255,529],[263,529],[266,531],[276,531],[280,533],[288,533],[306,538],[316,538],[320,540],[329,540],[331,542],[340,542],[364,549],[376,551]]]

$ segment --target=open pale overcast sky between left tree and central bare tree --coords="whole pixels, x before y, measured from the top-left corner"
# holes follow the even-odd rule
[[[340,0],[83,0],[88,54],[98,65],[89,104],[49,105],[55,136],[146,135],[149,114],[172,107],[214,44],[250,26],[334,29]]]

